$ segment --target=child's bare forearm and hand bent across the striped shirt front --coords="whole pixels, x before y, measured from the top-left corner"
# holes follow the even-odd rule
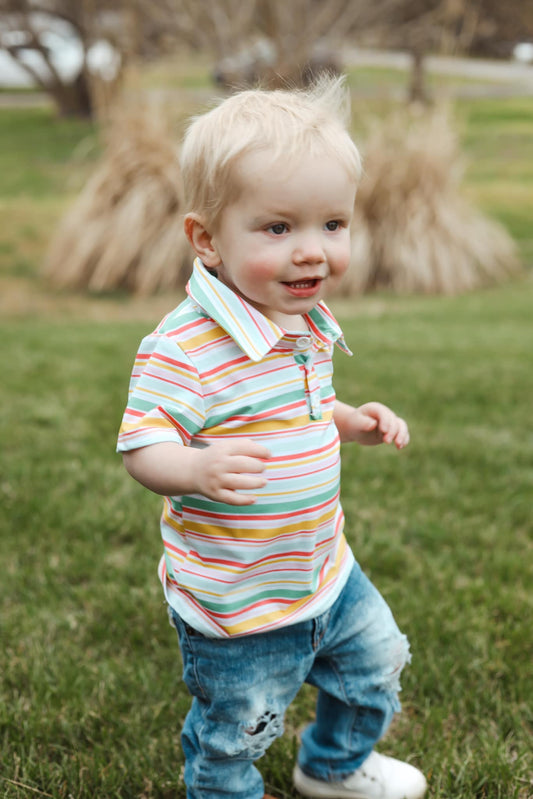
[[[203,494],[229,505],[255,502],[253,494],[240,492],[266,485],[262,472],[269,457],[268,449],[251,439],[226,439],[205,449],[169,441],[123,453],[131,476],[156,494]]]

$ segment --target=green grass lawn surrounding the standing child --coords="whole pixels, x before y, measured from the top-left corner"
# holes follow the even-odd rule
[[[530,101],[457,113],[465,190],[531,265]],[[0,111],[0,291],[15,281],[46,298],[4,305],[0,319],[5,799],[185,797],[189,700],[155,574],[160,500],[114,453],[132,359],[161,299],[57,298],[37,277],[95,142],[90,126],[43,109]],[[532,304],[526,274],[457,298],[334,305],[355,353],[336,356],[338,396],[380,399],[411,427],[401,453],[344,448],[343,504],[356,556],[413,653],[404,712],[381,748],[422,768],[436,798],[533,795]],[[304,688],[262,762],[283,799],[297,796],[290,774],[313,702]]]

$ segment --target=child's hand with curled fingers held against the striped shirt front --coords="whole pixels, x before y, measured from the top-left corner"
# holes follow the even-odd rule
[[[264,461],[270,458],[266,447],[249,438],[234,438],[212,444],[200,453],[193,475],[197,493],[229,505],[255,502],[254,494],[240,492],[266,485]]]

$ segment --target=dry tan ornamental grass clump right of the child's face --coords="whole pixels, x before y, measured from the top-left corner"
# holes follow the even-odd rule
[[[370,134],[342,289],[458,294],[519,269],[514,242],[462,196],[444,109],[405,111]]]

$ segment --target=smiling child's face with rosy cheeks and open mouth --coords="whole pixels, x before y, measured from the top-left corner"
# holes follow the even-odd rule
[[[285,328],[345,273],[355,182],[335,157],[304,154],[289,167],[268,152],[236,167],[242,186],[212,236],[218,277]]]

